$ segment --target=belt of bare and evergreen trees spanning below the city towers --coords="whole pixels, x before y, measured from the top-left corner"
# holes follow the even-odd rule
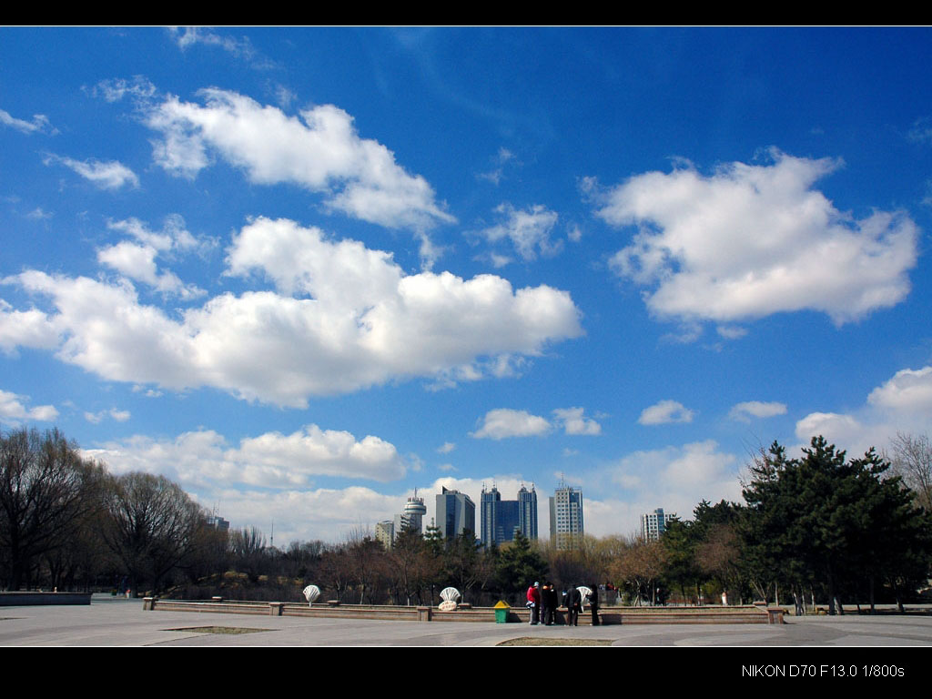
[[[298,601],[308,583],[357,604],[523,604],[528,585],[604,584],[629,604],[752,599],[873,605],[928,584],[932,514],[927,438],[898,435],[889,456],[847,459],[816,437],[789,459],[774,443],[748,464],[743,503],[703,500],[655,541],[584,537],[557,551],[520,534],[484,549],[473,532],[403,530],[386,550],[363,528],[347,541],[267,545],[256,528],[220,531],[181,487],[112,475],[61,432],[0,434],[0,586],[113,589],[179,597]],[[924,480],[925,479],[925,480]]]

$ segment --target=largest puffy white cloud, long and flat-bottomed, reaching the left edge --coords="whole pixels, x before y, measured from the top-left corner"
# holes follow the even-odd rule
[[[0,308],[0,347],[48,346],[54,330],[60,359],[108,380],[304,406],[311,395],[391,379],[496,376],[501,358],[539,355],[583,332],[566,292],[514,290],[492,275],[405,275],[391,254],[292,221],[245,226],[227,265],[277,291],[226,293],[169,315],[141,303],[126,279],[28,270],[6,281],[48,297],[54,310]]]

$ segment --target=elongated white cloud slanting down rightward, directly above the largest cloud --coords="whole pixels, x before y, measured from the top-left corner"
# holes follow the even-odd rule
[[[289,117],[278,107],[222,89],[204,89],[204,104],[170,97],[148,114],[161,134],[159,166],[194,177],[214,153],[255,184],[291,183],[327,196],[331,209],[370,223],[418,230],[456,219],[431,185],[408,174],[384,145],[362,139],[352,117],[324,104]]]

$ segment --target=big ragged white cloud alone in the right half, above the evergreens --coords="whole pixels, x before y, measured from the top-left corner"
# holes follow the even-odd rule
[[[610,265],[652,289],[653,313],[733,322],[810,309],[842,324],[909,294],[918,236],[910,217],[858,220],[812,188],[840,161],[771,156],[771,165],[734,162],[707,177],[647,172],[601,198],[599,216],[638,226]]]

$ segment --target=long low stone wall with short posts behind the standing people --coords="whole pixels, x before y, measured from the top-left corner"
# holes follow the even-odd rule
[[[341,619],[384,619],[410,622],[495,622],[491,607],[440,611],[435,607],[394,607],[389,605],[328,605],[310,607],[294,602],[185,601],[146,597],[144,610],[212,611],[224,614],[263,614]],[[556,611],[556,624],[564,624],[566,611]],[[609,607],[599,610],[602,624],[782,624],[783,610],[746,605],[743,607]],[[529,624],[530,610],[513,608],[508,621]],[[592,613],[585,610],[579,623],[592,624]]]

